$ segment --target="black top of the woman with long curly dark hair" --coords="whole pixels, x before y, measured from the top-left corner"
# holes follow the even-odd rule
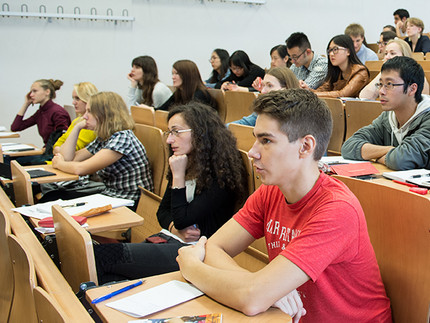
[[[185,188],[171,189],[169,182],[160,207],[157,211],[158,222],[164,229],[173,221],[178,230],[197,224],[201,235],[210,237],[234,214],[235,194],[222,189],[214,181],[209,189],[194,194],[188,203]]]

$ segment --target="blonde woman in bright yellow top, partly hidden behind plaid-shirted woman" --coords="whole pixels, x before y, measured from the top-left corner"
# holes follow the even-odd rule
[[[57,142],[54,144],[54,154],[61,152],[61,146],[64,144],[66,139],[69,137],[73,128],[77,123],[82,121],[82,116],[86,112],[87,103],[90,97],[98,92],[96,86],[90,82],[81,82],[73,85],[72,99],[73,106],[75,107],[77,117],[72,121],[67,131],[58,138]],[[79,137],[76,142],[76,150],[86,147],[90,142],[96,139],[96,134],[93,130],[82,129],[79,132]]]

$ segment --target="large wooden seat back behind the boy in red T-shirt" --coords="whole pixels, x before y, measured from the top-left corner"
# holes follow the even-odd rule
[[[427,322],[430,199],[370,181],[336,178],[363,207],[394,322]]]

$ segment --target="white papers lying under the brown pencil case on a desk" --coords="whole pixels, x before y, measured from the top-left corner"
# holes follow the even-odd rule
[[[32,218],[44,219],[46,217],[52,216],[52,205],[54,204],[65,206],[73,205],[80,202],[85,202],[85,204],[82,206],[66,207],[64,208],[64,210],[70,215],[75,215],[77,213],[88,211],[90,209],[105,206],[108,204],[111,204],[113,209],[120,206],[132,206],[134,204],[133,200],[110,197],[103,194],[93,194],[72,200],[57,200],[54,202],[39,203],[32,206],[17,207],[12,210],[19,212],[23,215],[30,216]]]

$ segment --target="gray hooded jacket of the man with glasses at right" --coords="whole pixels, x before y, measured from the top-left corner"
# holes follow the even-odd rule
[[[361,147],[365,143],[380,146],[394,146],[386,157],[385,164],[393,170],[415,168],[430,169],[430,98],[423,95],[417,112],[402,127],[403,139],[399,140],[390,118],[394,112],[384,111],[372,124],[361,128],[342,146],[342,156],[346,159],[364,160]],[[399,143],[400,141],[400,143]]]

